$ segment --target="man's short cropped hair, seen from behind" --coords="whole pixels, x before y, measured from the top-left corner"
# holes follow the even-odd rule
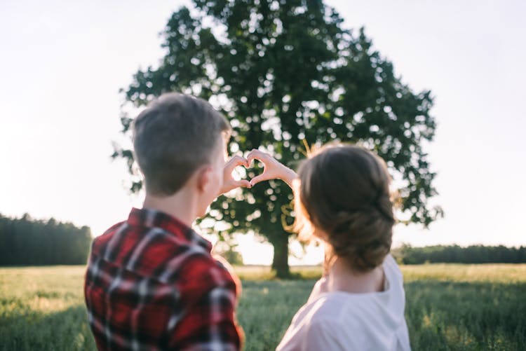
[[[172,195],[198,167],[210,163],[231,127],[203,99],[161,95],[133,122],[133,149],[147,192]]]

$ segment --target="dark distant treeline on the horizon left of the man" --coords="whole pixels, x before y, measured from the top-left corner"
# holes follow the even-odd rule
[[[0,214],[0,266],[84,264],[91,240],[87,226]]]

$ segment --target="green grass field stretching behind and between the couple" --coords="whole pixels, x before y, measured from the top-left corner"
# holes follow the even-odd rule
[[[526,350],[526,265],[402,267],[413,350]],[[245,350],[273,350],[309,295],[307,280],[265,280],[236,268]],[[95,350],[83,305],[82,266],[0,269],[0,350]]]

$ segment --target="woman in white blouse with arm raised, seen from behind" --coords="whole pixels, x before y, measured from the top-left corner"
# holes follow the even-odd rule
[[[359,146],[325,146],[298,174],[262,151],[264,172],[295,193],[295,230],[325,246],[325,273],[277,350],[410,350],[403,277],[389,255],[393,205],[384,161]]]

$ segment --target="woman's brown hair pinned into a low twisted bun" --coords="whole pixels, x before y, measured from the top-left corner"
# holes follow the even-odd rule
[[[328,145],[298,170],[295,230],[316,235],[354,270],[379,266],[391,249],[391,178],[382,158],[360,146]]]

